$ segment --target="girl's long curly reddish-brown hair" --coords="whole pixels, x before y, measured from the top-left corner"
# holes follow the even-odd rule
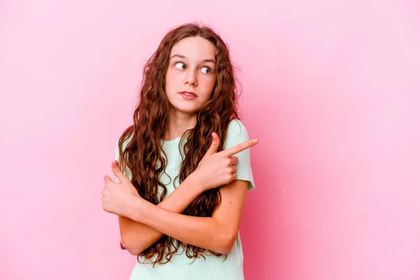
[[[183,140],[186,141],[183,145],[185,158],[181,163],[180,183],[197,168],[211,144],[211,132],[218,134],[221,140],[218,151],[221,151],[230,120],[239,119],[238,82],[228,45],[211,27],[200,26],[197,23],[181,25],[170,30],[144,66],[139,102],[133,116],[134,125],[128,127],[118,141],[120,168],[129,170],[132,184],[137,188],[139,195],[153,204],[161,202],[167,194],[167,188],[160,182],[159,177],[167,166],[166,154],[164,153],[165,157],[161,154],[163,150],[160,139],[165,137],[169,111],[169,102],[165,95],[165,74],[169,65],[169,53],[175,43],[190,36],[200,36],[216,46],[216,83],[209,102],[197,113],[195,127],[184,132],[181,137],[180,152],[181,143]],[[123,144],[127,139],[130,141],[123,151]],[[161,195],[158,195],[159,186],[163,189]],[[183,214],[210,217],[220,202],[221,195],[218,188],[207,190],[197,197]],[[125,249],[121,242],[120,246]],[[137,260],[140,262],[139,256],[143,256],[146,262],[153,263],[153,266],[156,263],[165,264],[171,260],[180,246],[185,249],[188,258],[193,258],[193,261],[200,256],[205,258],[205,251],[216,256],[223,255],[164,235],[141,252]]]

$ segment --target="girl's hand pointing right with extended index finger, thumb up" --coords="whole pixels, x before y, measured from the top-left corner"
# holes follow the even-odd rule
[[[211,137],[213,137],[213,141],[211,141],[209,150],[200,160],[197,169],[191,174],[200,186],[204,188],[203,191],[226,185],[235,180],[237,178],[236,165],[238,158],[234,155],[258,144],[258,140],[251,139],[217,153],[220,139],[214,132],[211,134]]]

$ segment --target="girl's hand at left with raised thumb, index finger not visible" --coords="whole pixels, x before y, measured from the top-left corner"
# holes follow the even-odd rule
[[[120,180],[120,183],[114,182],[105,175],[105,188],[102,190],[102,208],[112,214],[127,216],[130,214],[131,205],[142,198],[137,193],[136,188],[130,182],[114,160],[111,165],[113,174]]]

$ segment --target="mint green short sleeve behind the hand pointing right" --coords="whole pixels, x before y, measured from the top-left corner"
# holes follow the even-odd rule
[[[226,137],[224,149],[232,148],[249,140],[248,132],[245,125],[238,119],[231,120],[228,127],[228,135]],[[251,149],[247,148],[235,156],[238,158],[237,163],[237,180],[248,181],[248,190],[255,189],[253,174],[251,169]]]

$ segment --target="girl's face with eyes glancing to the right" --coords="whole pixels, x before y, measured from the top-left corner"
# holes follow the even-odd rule
[[[216,47],[204,38],[187,37],[171,50],[165,92],[170,113],[197,114],[216,82]]]

